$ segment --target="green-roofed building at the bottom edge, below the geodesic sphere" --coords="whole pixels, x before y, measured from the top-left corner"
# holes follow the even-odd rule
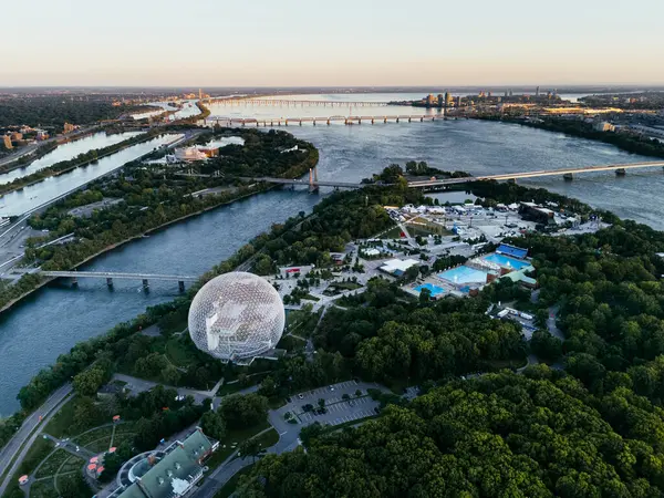
[[[205,460],[219,442],[208,438],[200,427],[183,442],[164,450],[138,455],[120,470],[121,486],[110,498],[177,498],[185,496],[203,478]]]

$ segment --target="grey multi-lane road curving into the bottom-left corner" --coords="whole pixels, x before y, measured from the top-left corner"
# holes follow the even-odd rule
[[[0,450],[0,470],[2,470],[9,466],[11,458],[20,449],[17,459],[14,460],[13,465],[7,473],[7,476],[4,477],[4,480],[2,481],[2,484],[0,484],[0,496],[4,494],[4,490],[7,489],[10,479],[19,468],[19,465],[21,465],[21,461],[23,461],[23,458],[25,458],[25,454],[28,453],[30,447],[34,444],[37,438],[40,437],[42,429],[46,426],[51,417],[58,413],[58,409],[54,408],[69,401],[71,393],[71,384],[65,384],[58,391],[55,391],[44,402],[44,404],[39,407],[39,409],[37,409],[32,415],[25,418],[19,432],[14,434],[14,436],[9,440],[9,443],[7,443],[2,450]],[[40,416],[43,417],[42,421],[39,419]]]

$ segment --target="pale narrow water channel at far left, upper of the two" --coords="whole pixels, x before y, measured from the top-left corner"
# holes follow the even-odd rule
[[[105,132],[95,133],[77,141],[68,142],[66,144],[59,145],[58,148],[50,152],[49,154],[40,157],[37,160],[30,163],[30,165],[23,168],[17,168],[3,175],[0,175],[0,185],[13,181],[17,178],[31,175],[39,172],[40,169],[53,166],[55,163],[62,160],[70,160],[80,154],[93,151],[95,148],[108,147],[110,145],[118,144],[127,138],[139,135],[141,132],[124,132],[116,133],[113,135],[106,135]]]

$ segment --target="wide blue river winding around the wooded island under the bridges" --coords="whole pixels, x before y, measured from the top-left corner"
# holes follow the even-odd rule
[[[309,95],[304,98],[312,98]],[[318,96],[328,98],[325,95]],[[384,96],[334,95],[329,98],[353,101]],[[405,98],[388,95],[388,100]],[[386,107],[363,108],[363,115],[385,113]],[[252,113],[253,111],[253,113]],[[258,111],[258,113],[257,113]],[[317,116],[341,114],[341,108],[245,107],[214,105],[212,115],[256,114]],[[400,114],[415,111],[400,107]],[[391,112],[391,111],[390,111]],[[279,114],[277,114],[279,113]],[[437,121],[434,123],[362,124],[361,126],[289,126],[297,136],[311,141],[320,149],[319,177],[360,180],[391,163],[427,160],[442,169],[465,169],[474,174],[511,173],[529,169],[563,168],[599,164],[619,164],[649,158],[630,155],[612,146],[537,131],[518,125],[478,121]],[[618,215],[664,229],[662,214],[664,188],[662,170],[629,172],[624,178],[611,173],[575,178],[564,183],[549,177],[523,181],[611,209]],[[262,194],[216,209],[169,227],[148,238],[126,245],[97,258],[84,269],[110,271],[169,272],[199,274],[230,256],[247,240],[268,230],[299,211],[310,211],[320,196],[302,190]],[[649,199],[644,203],[643,199]],[[55,283],[35,293],[0,315],[0,414],[18,408],[15,395],[40,369],[79,341],[101,334],[115,323],[129,320],[146,307],[177,295],[176,284],[152,284],[144,293],[141,282],[118,281],[108,291],[104,281],[80,282],[77,290],[66,282]]]

